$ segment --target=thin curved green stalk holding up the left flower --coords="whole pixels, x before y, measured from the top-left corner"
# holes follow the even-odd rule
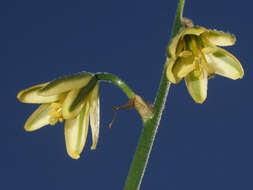
[[[111,73],[96,73],[95,76],[98,80],[111,82],[114,85],[118,86],[126,94],[126,96],[129,99],[131,99],[133,97],[133,95],[135,94],[132,91],[132,89],[116,75],[113,75]]]

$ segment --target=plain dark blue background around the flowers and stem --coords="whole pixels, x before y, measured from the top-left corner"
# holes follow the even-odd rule
[[[23,129],[36,108],[16,94],[31,85],[82,70],[117,74],[153,101],[165,61],[177,0],[0,1],[0,188],[123,189],[141,134],[135,110],[115,86],[101,85],[101,133],[91,134],[79,160],[66,153],[63,124]],[[184,15],[197,25],[230,31],[227,48],[245,77],[209,81],[203,105],[185,84],[172,86],[141,189],[253,189],[252,2],[188,0]]]

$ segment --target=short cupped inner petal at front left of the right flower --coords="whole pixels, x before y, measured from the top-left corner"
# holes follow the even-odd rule
[[[177,78],[183,78],[195,69],[194,57],[186,57],[178,59],[177,63],[174,65],[172,72]]]

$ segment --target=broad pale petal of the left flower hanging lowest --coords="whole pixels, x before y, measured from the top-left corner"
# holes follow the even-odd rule
[[[78,159],[84,148],[89,127],[89,103],[85,104],[75,119],[68,119],[64,133],[66,148],[69,156]]]

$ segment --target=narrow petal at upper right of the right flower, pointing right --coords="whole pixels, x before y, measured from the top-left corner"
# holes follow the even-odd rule
[[[235,44],[236,37],[233,34],[225,33],[217,30],[209,30],[203,34],[214,45],[232,46]]]

